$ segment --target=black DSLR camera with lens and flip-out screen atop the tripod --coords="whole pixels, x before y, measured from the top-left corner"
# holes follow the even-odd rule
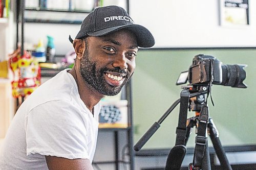
[[[181,72],[176,85],[189,81],[190,85],[219,84],[224,86],[246,88],[243,83],[246,78],[246,65],[222,64],[217,58],[199,54],[193,58],[188,71]]]

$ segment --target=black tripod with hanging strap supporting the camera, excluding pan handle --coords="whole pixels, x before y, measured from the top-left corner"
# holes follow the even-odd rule
[[[190,99],[190,93],[199,92]],[[206,94],[207,93],[207,94]],[[208,117],[208,105],[206,95],[209,94],[207,86],[187,86],[181,91],[179,123],[176,129],[176,144],[170,150],[165,169],[178,170],[186,153],[186,144],[190,130],[197,129],[196,146],[193,163],[188,165],[190,170],[210,170],[210,156],[207,134],[209,134],[216,154],[220,160],[222,169],[232,169],[225,151],[219,139],[218,130],[211,118]],[[187,119],[187,110],[196,111],[196,116]],[[200,112],[199,112],[200,111]]]

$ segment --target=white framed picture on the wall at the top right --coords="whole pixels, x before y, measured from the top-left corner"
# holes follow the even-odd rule
[[[249,0],[220,0],[220,25],[249,26]]]

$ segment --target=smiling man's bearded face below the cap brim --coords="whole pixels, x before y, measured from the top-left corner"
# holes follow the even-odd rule
[[[137,51],[136,37],[127,30],[88,37],[80,62],[84,82],[103,95],[118,94],[133,75]]]

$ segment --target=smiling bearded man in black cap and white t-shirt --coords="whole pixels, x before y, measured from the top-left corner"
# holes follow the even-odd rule
[[[154,37],[124,9],[95,9],[73,43],[72,69],[60,71],[19,107],[6,135],[0,169],[93,169],[99,101],[116,95]]]

